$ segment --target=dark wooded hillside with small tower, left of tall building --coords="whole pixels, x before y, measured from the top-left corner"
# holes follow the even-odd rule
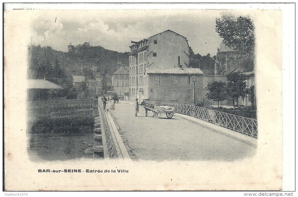
[[[28,78],[63,78],[83,75],[81,65],[94,64],[94,72],[111,75],[122,66],[128,66],[128,53],[107,50],[101,46],[69,45],[68,52],[56,51],[40,45],[29,47]]]

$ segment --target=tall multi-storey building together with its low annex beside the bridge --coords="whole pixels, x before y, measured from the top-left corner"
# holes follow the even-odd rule
[[[130,98],[192,104],[193,96],[190,99],[189,95],[193,95],[193,82],[188,84],[189,79],[203,73],[198,68],[189,67],[189,45],[186,37],[167,30],[147,39],[131,42]],[[199,94],[195,95],[197,97]]]

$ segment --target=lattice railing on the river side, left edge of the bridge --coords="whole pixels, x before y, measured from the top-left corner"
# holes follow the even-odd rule
[[[111,129],[111,125],[108,121],[107,115],[105,114],[105,111],[103,109],[103,104],[101,102],[98,102],[98,111],[100,114],[100,120],[101,124],[105,130],[105,138],[108,144],[108,152],[110,158],[124,158],[122,151],[120,149],[120,146],[118,144],[118,141],[115,137],[115,133],[113,129]]]

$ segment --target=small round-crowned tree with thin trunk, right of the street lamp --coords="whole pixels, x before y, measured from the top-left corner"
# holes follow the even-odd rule
[[[217,101],[217,107],[219,107],[219,101],[223,101],[228,98],[225,82],[213,81],[207,85],[207,89],[209,90],[209,93],[207,93],[206,96],[209,99]]]

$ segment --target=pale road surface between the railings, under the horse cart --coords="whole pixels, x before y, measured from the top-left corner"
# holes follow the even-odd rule
[[[107,104],[107,108],[110,104]],[[140,107],[119,101],[109,111],[133,160],[218,160],[234,161],[252,157],[256,148],[212,131],[178,116],[152,117]],[[151,117],[150,117],[151,116]]]

